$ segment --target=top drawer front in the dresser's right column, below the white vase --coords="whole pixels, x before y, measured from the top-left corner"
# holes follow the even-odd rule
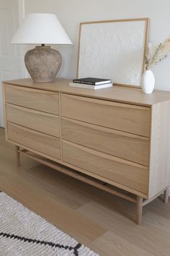
[[[146,137],[150,136],[150,112],[143,106],[61,95],[62,116]]]

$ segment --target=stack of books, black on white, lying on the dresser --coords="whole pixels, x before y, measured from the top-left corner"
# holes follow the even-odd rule
[[[69,85],[72,87],[97,90],[112,87],[112,81],[102,78],[86,77],[80,79],[73,79],[73,82],[70,82]]]

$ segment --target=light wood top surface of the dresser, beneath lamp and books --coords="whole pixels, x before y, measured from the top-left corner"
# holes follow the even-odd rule
[[[55,82],[37,83],[33,82],[30,78],[4,81],[5,84],[18,85],[24,88],[49,90],[106,101],[131,103],[140,106],[152,106],[164,101],[170,101],[170,92],[168,91],[154,90],[152,94],[145,94],[142,92],[141,88],[128,88],[119,85],[114,85],[112,88],[88,90],[70,87],[69,82],[71,82],[71,80],[58,79]]]

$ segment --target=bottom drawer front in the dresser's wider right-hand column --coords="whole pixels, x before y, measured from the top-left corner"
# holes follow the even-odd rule
[[[111,181],[148,193],[148,168],[63,141],[63,161]]]

